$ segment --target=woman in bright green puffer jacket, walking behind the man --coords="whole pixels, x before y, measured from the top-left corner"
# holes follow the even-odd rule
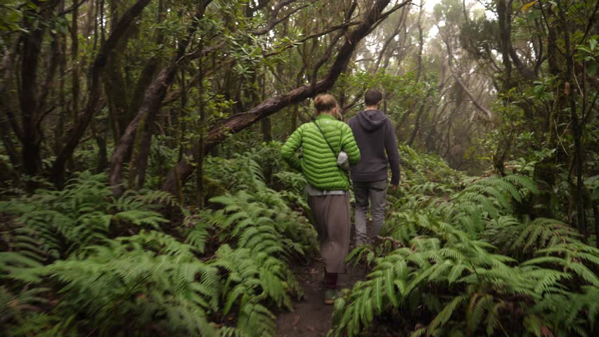
[[[299,126],[281,154],[308,182],[308,201],[325,263],[325,303],[333,304],[337,274],[344,271],[343,260],[349,252],[349,177],[337,166],[337,155],[346,152],[349,164],[354,165],[360,160],[360,150],[352,129],[335,119],[339,107],[333,95],[316,96],[314,107],[316,121]],[[296,154],[300,147],[302,156]]]

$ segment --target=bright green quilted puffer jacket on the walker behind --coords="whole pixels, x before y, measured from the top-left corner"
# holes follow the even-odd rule
[[[319,115],[316,123],[321,127],[335,153],[345,151],[349,157],[349,164],[352,165],[360,161],[360,150],[354,140],[352,128],[342,121],[337,121],[330,114]],[[301,159],[296,154],[299,147],[303,150]],[[301,170],[308,183],[318,190],[349,190],[347,173],[337,166],[337,156],[326,145],[321,131],[318,131],[313,122],[299,126],[283,145],[281,154],[291,166]]]

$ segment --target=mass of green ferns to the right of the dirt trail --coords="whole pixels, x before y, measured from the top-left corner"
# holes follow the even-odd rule
[[[330,336],[377,319],[412,336],[591,336],[599,249],[558,220],[515,218],[513,204],[538,192],[517,175],[408,185],[388,237],[348,256],[373,270],[335,303]]]

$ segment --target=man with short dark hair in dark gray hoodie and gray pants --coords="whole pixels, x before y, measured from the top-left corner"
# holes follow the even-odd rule
[[[399,151],[395,143],[395,129],[391,119],[378,110],[381,100],[380,91],[376,89],[366,91],[364,95],[366,110],[358,112],[348,122],[361,154],[360,162],[352,166],[356,198],[356,246],[368,242],[366,234],[368,199],[370,199],[373,216],[373,235],[378,235],[385,223],[389,166],[393,189],[397,189],[399,184]]]

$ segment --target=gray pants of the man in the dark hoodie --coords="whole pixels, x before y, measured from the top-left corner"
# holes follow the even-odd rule
[[[378,181],[354,181],[356,198],[356,246],[368,243],[366,213],[368,200],[373,216],[373,236],[379,234],[385,224],[385,202],[387,201],[387,179]]]

